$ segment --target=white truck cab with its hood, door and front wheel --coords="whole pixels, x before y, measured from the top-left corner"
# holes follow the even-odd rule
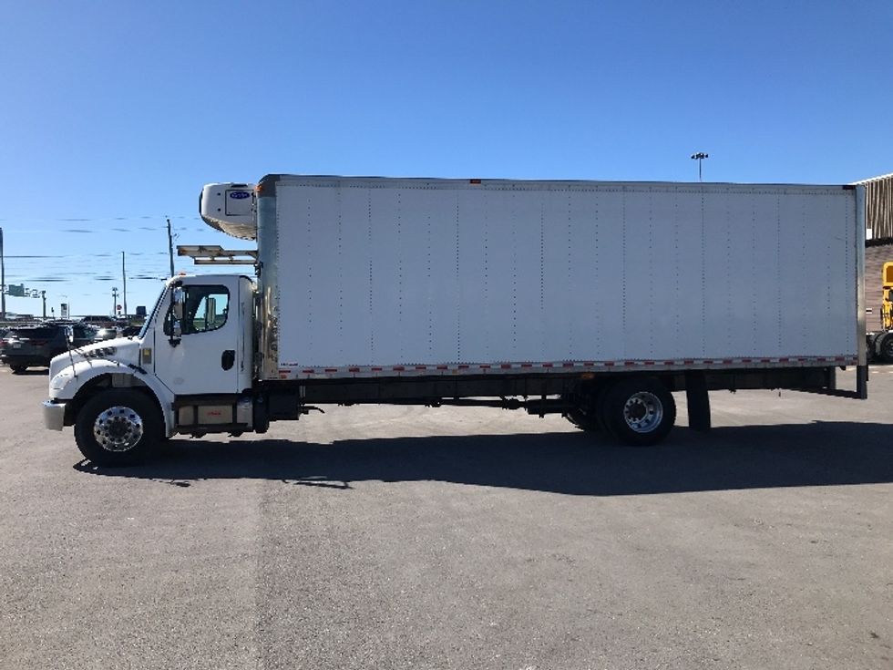
[[[139,335],[53,358],[46,427],[74,426],[81,452],[111,464],[176,433],[250,429],[253,323],[250,277],[170,279]]]

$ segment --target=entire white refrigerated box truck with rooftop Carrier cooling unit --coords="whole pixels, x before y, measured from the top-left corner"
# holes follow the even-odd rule
[[[56,357],[46,426],[115,465],[327,403],[560,413],[649,445],[674,391],[696,429],[715,389],[866,397],[864,210],[850,186],[211,184],[201,216],[256,240],[255,272],[173,277],[139,335]]]

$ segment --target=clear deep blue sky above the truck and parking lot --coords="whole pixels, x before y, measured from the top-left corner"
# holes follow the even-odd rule
[[[270,172],[691,181],[700,150],[704,180],[885,174],[891,36],[888,0],[0,0],[6,282],[108,314],[125,252],[151,305],[165,217],[244,248],[201,186]]]

